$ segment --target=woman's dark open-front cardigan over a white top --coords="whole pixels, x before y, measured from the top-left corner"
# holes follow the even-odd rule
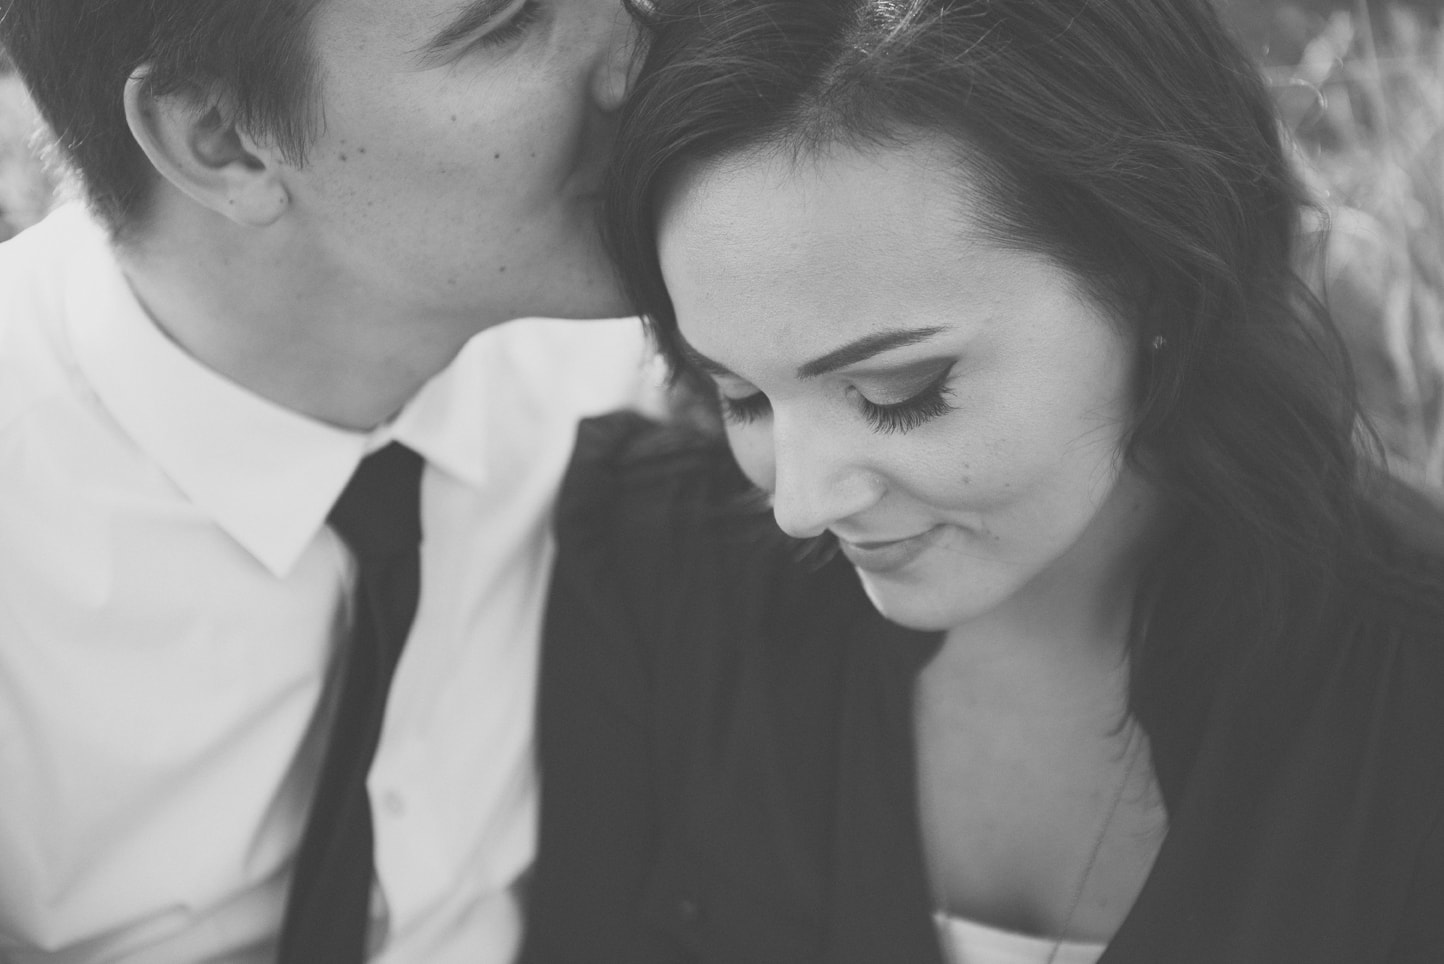
[[[580,430],[523,964],[940,964],[911,724],[939,639],[745,495],[715,443]],[[1155,740],[1170,828],[1103,964],[1444,964],[1444,626],[1356,596],[1311,671],[1223,674]]]

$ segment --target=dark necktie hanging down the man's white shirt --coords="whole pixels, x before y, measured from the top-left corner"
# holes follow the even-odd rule
[[[328,522],[357,560],[349,648],[282,925],[279,964],[360,964],[371,903],[371,801],[386,694],[420,590],[422,457],[393,442],[357,468]]]

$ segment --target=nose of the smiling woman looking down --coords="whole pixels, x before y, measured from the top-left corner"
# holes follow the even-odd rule
[[[809,426],[774,423],[773,515],[794,538],[822,535],[882,498],[882,478],[846,439]]]

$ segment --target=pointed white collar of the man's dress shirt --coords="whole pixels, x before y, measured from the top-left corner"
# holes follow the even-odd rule
[[[81,372],[169,481],[277,577],[325,525],[361,457],[390,439],[464,483],[485,472],[485,406],[464,351],[391,423],[348,431],[277,406],[172,342],[136,300],[103,235],[77,253],[66,328]]]

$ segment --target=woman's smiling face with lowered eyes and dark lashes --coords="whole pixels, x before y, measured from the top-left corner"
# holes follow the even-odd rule
[[[950,629],[1118,576],[1148,502],[1121,456],[1131,336],[989,240],[947,147],[710,163],[660,257],[742,469],[884,615]]]

